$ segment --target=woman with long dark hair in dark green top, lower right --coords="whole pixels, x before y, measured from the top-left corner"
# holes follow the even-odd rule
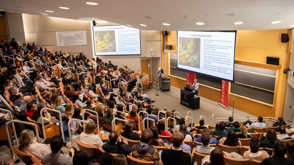
[[[277,141],[281,140],[277,139],[276,132],[273,129],[268,129],[266,131],[266,134],[264,134],[259,140],[259,143],[260,147],[272,149],[274,147],[274,143],[276,143]]]

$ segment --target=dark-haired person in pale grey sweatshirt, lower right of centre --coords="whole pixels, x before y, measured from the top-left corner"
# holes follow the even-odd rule
[[[215,147],[210,147],[210,141],[210,134],[203,132],[201,135],[202,146],[196,146],[195,152],[210,155],[210,152],[215,149]]]

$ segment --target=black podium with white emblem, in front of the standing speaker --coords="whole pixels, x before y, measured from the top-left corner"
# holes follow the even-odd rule
[[[194,97],[195,92],[181,89],[181,104],[190,109],[200,108],[200,97]]]

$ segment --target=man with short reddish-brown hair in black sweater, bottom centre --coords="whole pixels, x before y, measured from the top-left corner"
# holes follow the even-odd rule
[[[184,141],[184,135],[181,132],[173,134],[171,149],[159,152],[161,161],[164,165],[191,165],[192,155],[189,152],[183,152],[181,145]]]

